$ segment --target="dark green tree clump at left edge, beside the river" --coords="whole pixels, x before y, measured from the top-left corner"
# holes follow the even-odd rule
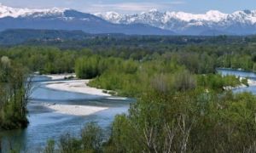
[[[0,61],[0,129],[26,127],[26,104],[32,88],[21,65],[3,56]]]

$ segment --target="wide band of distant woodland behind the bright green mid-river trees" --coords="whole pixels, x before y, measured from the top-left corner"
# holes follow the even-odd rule
[[[149,42],[148,42],[149,43]],[[31,71],[40,73],[70,73],[75,71],[77,59],[90,55],[115,57],[147,62],[154,59],[172,60],[196,74],[214,73],[217,67],[256,71],[253,44],[199,44],[139,46],[104,46],[61,50],[54,47],[20,46],[0,48],[0,56],[8,56]]]

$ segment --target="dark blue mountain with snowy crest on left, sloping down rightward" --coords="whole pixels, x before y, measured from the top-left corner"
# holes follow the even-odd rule
[[[0,31],[7,29],[81,30],[88,33],[171,35],[172,31],[144,24],[113,24],[94,14],[69,8],[10,8],[0,5]]]

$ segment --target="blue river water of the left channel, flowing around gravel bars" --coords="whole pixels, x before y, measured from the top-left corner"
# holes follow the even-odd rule
[[[44,148],[48,139],[58,140],[63,133],[69,132],[73,136],[79,136],[86,122],[97,122],[108,133],[114,116],[127,113],[130,104],[135,101],[45,88],[44,83],[50,82],[47,77],[35,77],[34,81],[35,88],[28,105],[30,124],[26,129],[0,133],[3,137],[3,152],[10,144],[24,152],[38,152]],[[90,116],[72,116],[49,110],[44,107],[45,104],[103,106],[108,107],[108,110]]]

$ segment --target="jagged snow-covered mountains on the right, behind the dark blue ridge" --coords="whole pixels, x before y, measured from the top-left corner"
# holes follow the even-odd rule
[[[162,13],[152,9],[141,14],[107,12],[96,15],[115,24],[141,23],[185,35],[209,34],[209,31],[238,35],[254,34],[256,32],[256,10],[236,11],[233,14],[210,10],[206,14],[189,14],[171,11]]]

